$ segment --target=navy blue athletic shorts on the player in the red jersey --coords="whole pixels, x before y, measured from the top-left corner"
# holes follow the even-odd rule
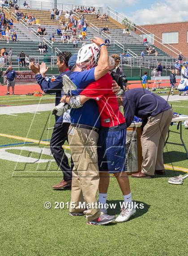
[[[99,171],[117,173],[125,171],[126,123],[114,127],[101,127],[98,138]]]

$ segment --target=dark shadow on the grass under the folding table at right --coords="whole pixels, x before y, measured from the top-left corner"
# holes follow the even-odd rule
[[[173,162],[181,162],[187,160],[186,153],[169,151],[163,153],[164,164],[172,164]]]

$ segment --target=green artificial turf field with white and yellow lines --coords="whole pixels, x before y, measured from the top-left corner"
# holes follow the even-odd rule
[[[54,102],[50,97],[50,102],[45,103]],[[6,105],[12,105],[11,100]],[[3,97],[0,97],[0,101],[3,101]],[[16,104],[19,105],[19,102]],[[20,104],[25,103],[22,101]],[[188,114],[186,101],[172,102],[172,107],[175,112]],[[23,144],[18,143],[23,143],[23,140],[10,138],[9,135],[36,139],[40,142],[28,143],[24,147],[49,148],[47,144],[52,130],[47,131],[47,128],[53,125],[54,117],[50,112],[41,112],[40,115],[1,115],[1,157],[5,148],[10,148],[7,152],[13,153],[14,156],[17,154],[17,159],[21,155],[52,160],[49,155],[32,153],[30,149],[21,151]],[[177,126],[174,125],[171,129],[176,130]],[[183,137],[188,147],[188,130],[185,130],[184,126]],[[171,134],[170,140],[180,143],[179,135],[176,134]],[[66,152],[69,153],[68,149]],[[16,161],[0,160],[1,255],[187,255],[188,180],[185,180],[183,185],[171,185],[167,182],[170,176],[184,174],[183,172],[167,170],[165,177],[156,176],[149,180],[130,178],[133,199],[144,203],[144,209],[137,210],[136,216],[126,223],[89,226],[85,224],[84,216],[71,217],[67,209],[55,209],[55,202],[70,201],[71,193],[70,190],[51,189],[51,186],[62,178],[55,162],[30,164]],[[164,149],[164,162],[171,166],[188,167],[184,148],[177,145],[167,144]],[[110,210],[109,214],[120,213],[119,201],[122,199],[120,188],[115,178],[111,177],[108,202],[116,202],[117,207]],[[47,201],[52,203],[49,210],[44,208]]]

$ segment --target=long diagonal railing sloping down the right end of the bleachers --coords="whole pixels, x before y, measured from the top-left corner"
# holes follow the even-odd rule
[[[107,14],[108,14],[111,18],[115,19],[117,22],[120,22],[120,23],[126,22],[126,23],[127,23],[128,25],[130,25],[131,27],[134,27],[134,28],[136,28],[137,30],[141,31],[141,32],[142,32],[143,34],[145,34],[147,37],[150,37],[151,39],[154,39],[156,42],[158,42],[158,43],[161,45],[161,47],[163,47],[163,48],[165,47],[166,49],[170,50],[170,51],[171,51],[171,55],[172,55],[172,53],[174,53],[174,54],[176,54],[176,55],[179,55],[179,50],[178,50],[178,49],[176,49],[177,51],[174,51],[174,50],[172,49],[173,47],[171,47],[171,45],[169,45],[169,44],[167,44],[167,43],[165,43],[165,42],[164,42],[164,43],[167,44],[167,45],[169,45],[171,48],[169,48],[167,45],[164,45],[161,38],[159,38],[159,37],[157,37],[157,36],[155,36],[155,35],[154,35],[154,37],[148,35],[148,34],[144,31],[144,28],[141,27],[141,29],[142,29],[142,30],[141,30],[140,28],[136,27],[136,25],[135,25],[132,21],[128,20],[128,19],[125,18],[125,17],[122,17],[122,14],[116,12],[114,9],[112,9],[112,8],[109,7],[109,6],[107,7]],[[150,31],[148,31],[148,32],[149,32],[150,34],[152,34]],[[160,41],[157,40],[156,38],[160,39]]]

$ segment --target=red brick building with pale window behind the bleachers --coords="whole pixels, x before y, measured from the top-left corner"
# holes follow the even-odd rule
[[[162,39],[163,42],[168,43],[169,45],[175,47],[178,50],[173,49],[175,52],[182,52],[184,57],[188,57],[188,21],[186,22],[169,22],[169,23],[160,23],[160,24],[150,24],[150,25],[140,25],[149,32],[146,32],[151,37],[147,36],[147,39],[150,43],[156,45],[158,48],[165,51],[167,54],[170,54],[173,57],[176,57],[176,54],[171,52],[169,49],[158,43],[156,40],[160,41],[155,36],[158,36]],[[135,31],[138,35],[145,37],[141,31],[142,28],[137,25],[137,30]],[[139,31],[140,29],[141,31]],[[168,46],[169,45],[165,44]]]

